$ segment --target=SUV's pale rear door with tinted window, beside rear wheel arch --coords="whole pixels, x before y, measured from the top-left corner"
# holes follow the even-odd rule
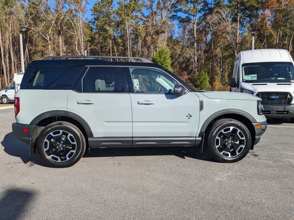
[[[126,75],[119,66],[87,66],[68,96],[67,111],[90,126],[90,147],[131,146],[132,109]]]

